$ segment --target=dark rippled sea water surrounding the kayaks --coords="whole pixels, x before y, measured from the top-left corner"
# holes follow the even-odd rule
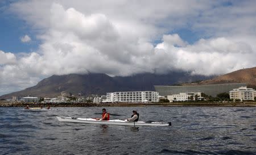
[[[110,119],[138,110],[169,127],[58,122],[100,118],[102,107],[0,108],[0,154],[256,154],[255,107],[106,107]]]

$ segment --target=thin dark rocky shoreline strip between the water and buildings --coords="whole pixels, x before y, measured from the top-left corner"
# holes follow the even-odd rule
[[[21,103],[0,102],[0,107],[256,107],[256,102],[175,102],[175,103]]]

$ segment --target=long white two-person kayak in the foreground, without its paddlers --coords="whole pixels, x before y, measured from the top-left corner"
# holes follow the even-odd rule
[[[126,126],[170,126],[169,123],[162,122],[127,122],[125,120],[96,120],[91,118],[70,118],[66,116],[56,116],[60,122],[87,123],[87,124],[104,124],[104,125],[126,125]]]

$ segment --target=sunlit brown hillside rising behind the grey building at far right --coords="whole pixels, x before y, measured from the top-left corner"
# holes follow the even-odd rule
[[[185,85],[209,85],[221,83],[246,83],[249,87],[256,87],[256,67],[240,69],[232,73],[224,74],[200,82],[186,83]]]

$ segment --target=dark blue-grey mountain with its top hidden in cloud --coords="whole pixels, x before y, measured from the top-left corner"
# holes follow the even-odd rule
[[[154,85],[173,85],[179,82],[192,82],[209,79],[205,76],[191,76],[190,73],[171,72],[168,74],[141,73],[128,77],[110,77],[101,73],[53,75],[40,81],[36,86],[22,91],[2,95],[0,99],[11,97],[57,97],[61,91],[74,95],[106,95],[113,91],[154,91]]]

